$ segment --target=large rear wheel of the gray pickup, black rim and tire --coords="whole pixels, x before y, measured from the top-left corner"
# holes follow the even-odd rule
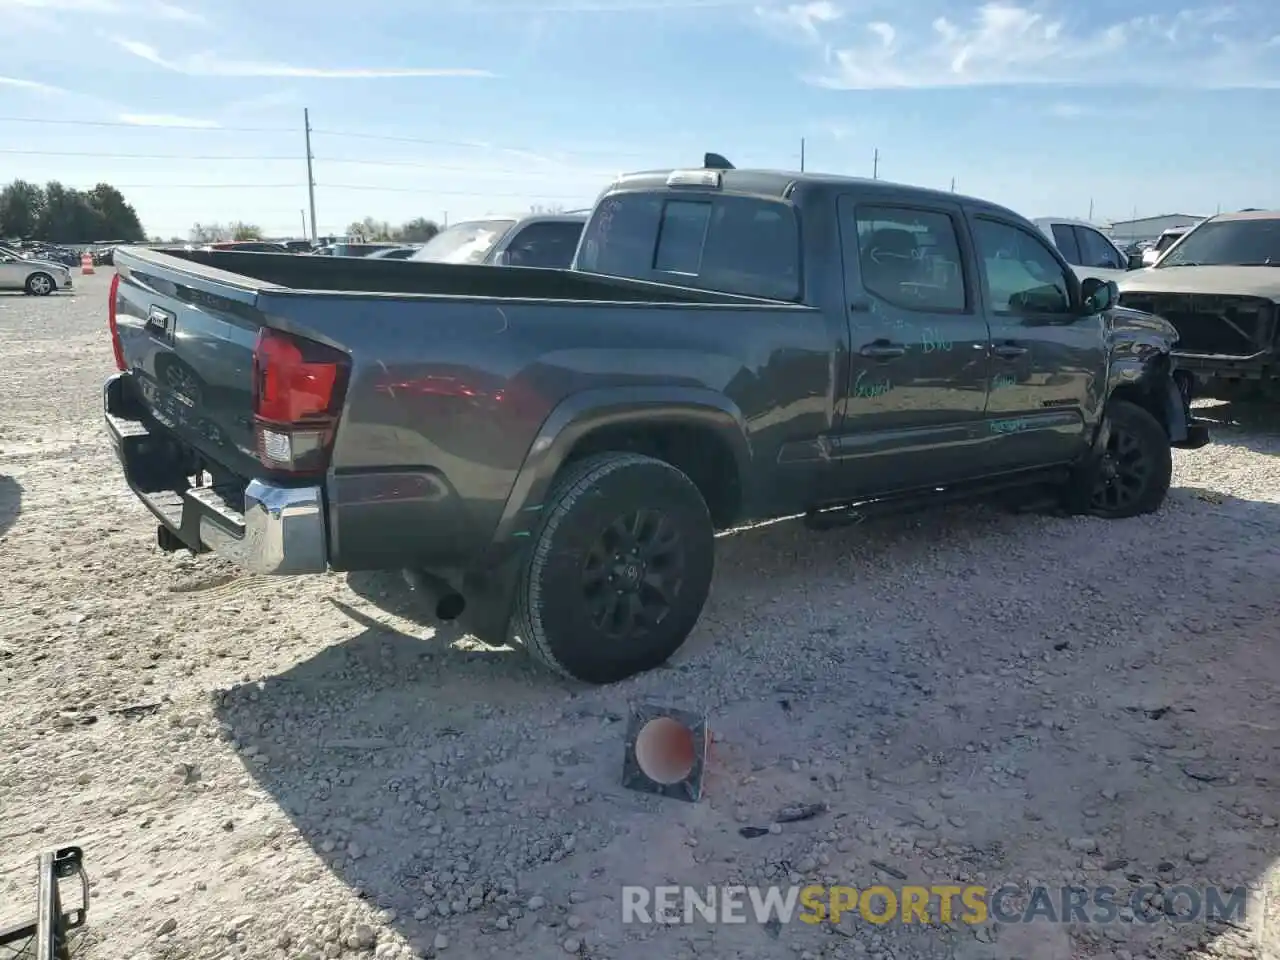
[[[635,453],[571,465],[522,577],[512,632],[540,663],[613,684],[666,663],[710,591],[716,530],[680,470]]]

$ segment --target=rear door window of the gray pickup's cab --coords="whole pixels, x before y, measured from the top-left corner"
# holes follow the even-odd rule
[[[948,214],[859,206],[858,259],[868,293],[905,310],[963,312],[964,270]]]

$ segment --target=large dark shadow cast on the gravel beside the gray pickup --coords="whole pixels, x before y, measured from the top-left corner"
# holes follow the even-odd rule
[[[980,507],[824,535],[776,524],[724,538],[703,623],[667,669],[580,689],[339,603],[357,637],[233,687],[218,713],[316,860],[428,955],[442,932],[460,956],[562,955],[575,892],[585,955],[648,957],[621,925],[621,884],[739,882],[726,861],[760,884],[1203,891],[1280,856],[1280,608],[1258,529],[1280,530],[1280,504],[1190,490],[1117,524]],[[411,611],[396,582],[353,589]],[[701,804],[618,785],[641,699],[709,712]],[[813,800],[828,809],[812,822],[739,835]],[[998,943],[858,925],[845,936],[897,955],[924,955],[923,937],[951,937],[959,960],[1073,955],[1062,925],[1006,927]],[[817,952],[829,934],[781,936]],[[1242,936],[1158,918],[1071,934],[1075,955],[1152,956]],[[712,956],[777,948],[754,923],[691,940]]]

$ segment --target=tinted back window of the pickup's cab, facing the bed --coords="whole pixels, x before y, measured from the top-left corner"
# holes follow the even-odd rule
[[[790,204],[756,197],[620,193],[591,216],[580,270],[772,300],[800,298]]]

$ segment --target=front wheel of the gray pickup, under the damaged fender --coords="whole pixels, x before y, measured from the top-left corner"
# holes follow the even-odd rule
[[[1112,401],[1107,421],[1106,451],[1089,471],[1087,509],[1106,520],[1153,513],[1174,474],[1169,434],[1149,411],[1128,401]]]

